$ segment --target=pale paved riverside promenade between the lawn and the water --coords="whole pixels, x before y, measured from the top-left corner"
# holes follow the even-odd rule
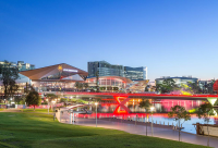
[[[69,115],[65,113],[62,115],[62,123],[69,123]],[[130,121],[131,122],[131,121]],[[96,126],[96,120],[95,119],[77,119],[75,118],[75,124],[77,125],[84,125],[84,126]],[[107,120],[98,120],[98,127],[105,127],[105,128],[112,128],[112,130],[120,130],[124,131],[131,134],[137,134],[137,135],[146,135],[146,126],[145,124],[142,125],[135,125],[132,123],[121,123],[117,121],[107,121]],[[147,127],[147,134],[148,136],[152,136],[152,128],[150,126]],[[173,131],[169,127],[154,127],[154,137],[160,137],[166,139],[172,139],[178,140],[179,139],[179,132]],[[181,141],[190,143],[190,144],[196,144],[196,145],[204,145],[207,146],[207,136],[201,136],[190,133],[181,132]],[[210,147],[218,148],[218,138],[217,137],[210,137]]]

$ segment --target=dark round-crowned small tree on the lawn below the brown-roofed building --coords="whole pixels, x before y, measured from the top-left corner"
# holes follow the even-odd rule
[[[41,102],[41,98],[38,95],[37,91],[29,91],[28,95],[26,96],[26,103],[27,106],[34,106],[34,111],[35,111],[35,107],[39,106]]]

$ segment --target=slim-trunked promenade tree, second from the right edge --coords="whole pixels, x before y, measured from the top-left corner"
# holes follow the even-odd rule
[[[174,106],[174,107],[171,107],[170,112],[168,113],[168,116],[173,118],[175,121],[179,122],[179,141],[180,141],[180,131],[181,131],[180,122],[181,120],[184,120],[184,122],[187,120],[191,120],[191,115],[185,110],[184,107]]]

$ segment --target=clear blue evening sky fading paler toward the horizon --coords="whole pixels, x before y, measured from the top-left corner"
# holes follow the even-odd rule
[[[0,0],[0,61],[218,78],[217,0]]]

